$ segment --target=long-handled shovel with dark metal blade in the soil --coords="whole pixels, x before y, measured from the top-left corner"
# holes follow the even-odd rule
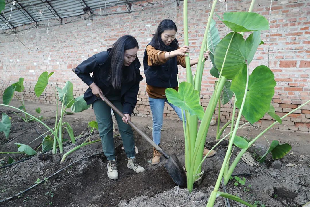
[[[125,115],[118,110],[108,99],[104,96],[104,102],[106,102],[119,116],[124,117]],[[175,153],[171,155],[167,155],[166,152],[162,150],[157,144],[155,144],[146,134],[144,134],[131,120],[127,122],[132,128],[134,128],[148,143],[150,143],[157,151],[160,152],[168,161],[165,164],[165,168],[167,169],[169,175],[171,176],[172,180],[179,186],[185,187],[186,185],[186,175],[182,168],[182,165],[178,158],[176,157]]]

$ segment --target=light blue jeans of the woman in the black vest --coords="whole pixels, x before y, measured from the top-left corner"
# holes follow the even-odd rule
[[[148,101],[150,103],[150,108],[152,111],[153,116],[153,142],[155,144],[160,144],[160,134],[162,130],[162,123],[163,123],[163,116],[164,116],[164,106],[165,102],[167,102],[173,110],[175,110],[176,114],[179,116],[179,118],[182,121],[182,112],[181,109],[172,103],[169,103],[169,101],[166,98],[151,98],[148,97]],[[184,113],[184,119],[185,119],[185,113]],[[186,120],[184,120],[186,123]]]

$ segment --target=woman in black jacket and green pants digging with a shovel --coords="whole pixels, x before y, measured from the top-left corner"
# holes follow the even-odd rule
[[[104,102],[104,95],[125,115],[114,112],[128,158],[127,167],[137,173],[145,169],[135,159],[135,142],[131,127],[126,124],[137,103],[140,62],[137,58],[138,42],[130,36],[120,37],[112,48],[99,52],[75,68],[75,73],[89,88],[84,93],[87,104],[92,104],[100,133],[104,155],[108,160],[108,177],[118,178],[117,157],[113,140],[111,108]],[[92,77],[90,73],[93,73]]]

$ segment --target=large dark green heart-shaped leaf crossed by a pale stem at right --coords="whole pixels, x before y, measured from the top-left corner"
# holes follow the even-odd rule
[[[246,88],[246,65],[237,73],[232,80],[230,89],[236,95],[236,106],[240,109]],[[276,86],[274,74],[265,65],[256,67],[249,76],[248,91],[246,101],[242,110],[242,115],[251,124],[261,119],[269,110],[270,102],[274,95],[274,87]]]

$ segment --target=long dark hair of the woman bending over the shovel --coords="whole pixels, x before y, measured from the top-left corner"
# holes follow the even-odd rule
[[[121,88],[122,81],[124,80],[136,81],[137,75],[135,66],[136,62],[139,61],[138,58],[127,67],[123,65],[125,50],[130,50],[135,47],[139,48],[137,40],[131,35],[124,35],[118,38],[110,49],[108,59],[111,62],[111,68],[108,80],[112,83],[113,88]],[[123,68],[126,68],[126,70],[122,70]]]

